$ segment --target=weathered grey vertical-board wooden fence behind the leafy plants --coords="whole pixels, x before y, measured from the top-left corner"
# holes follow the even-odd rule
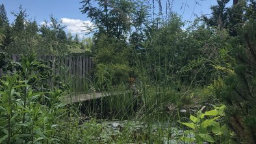
[[[12,54],[10,57],[15,62],[21,60],[21,55]],[[92,57],[88,56],[38,56],[39,60],[47,62],[47,66],[51,67],[54,75],[60,75],[60,79],[70,87],[71,95],[84,93],[89,90],[92,76],[90,75],[94,68]],[[15,67],[13,67],[15,71]],[[0,68],[0,77],[5,73]],[[51,80],[47,81],[51,82]]]

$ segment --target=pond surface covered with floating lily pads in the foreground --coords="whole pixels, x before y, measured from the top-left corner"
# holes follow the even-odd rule
[[[91,126],[99,128],[100,134],[92,137],[95,143],[110,143],[110,141],[115,143],[117,139],[127,139],[129,143],[159,141],[164,144],[174,144],[182,143],[179,138],[184,133],[183,130],[173,127],[172,123],[149,124],[141,121],[96,120],[94,123],[84,121],[81,126],[84,129],[90,129]]]

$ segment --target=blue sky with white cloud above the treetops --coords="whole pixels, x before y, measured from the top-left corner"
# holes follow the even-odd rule
[[[66,32],[71,34],[79,34],[84,36],[83,23],[92,25],[91,21],[85,14],[82,14],[79,8],[82,4],[81,0],[0,0],[0,4],[5,5],[8,19],[10,23],[14,21],[11,12],[18,12],[19,5],[26,10],[29,18],[36,19],[38,25],[44,20],[49,21],[51,14],[57,19],[62,19],[62,23],[66,25]],[[162,6],[166,5],[167,0],[162,0]],[[172,1],[172,0],[170,0]],[[232,1],[231,1],[232,2]],[[231,3],[230,2],[230,3]],[[231,5],[229,3],[229,5]],[[186,5],[186,6],[185,6]],[[190,21],[196,18],[195,14],[211,14],[211,5],[216,5],[216,0],[173,0],[173,11],[183,16],[183,21]],[[164,10],[164,8],[163,8]]]

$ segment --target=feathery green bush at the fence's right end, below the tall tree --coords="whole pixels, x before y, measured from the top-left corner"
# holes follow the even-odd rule
[[[127,82],[131,68],[128,65],[129,49],[125,43],[102,35],[92,50],[96,53],[96,83],[101,90]]]

